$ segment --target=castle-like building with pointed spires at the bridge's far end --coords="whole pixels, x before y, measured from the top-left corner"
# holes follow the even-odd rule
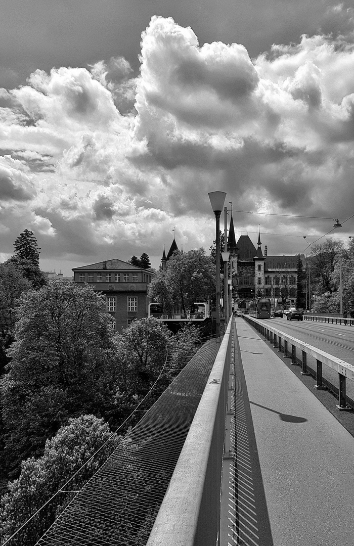
[[[228,250],[235,252],[233,231],[233,223],[230,223]],[[296,306],[298,256],[268,256],[267,246],[263,254],[261,245],[259,232],[257,248],[248,235],[241,235],[236,243],[237,267],[233,266],[233,286],[237,298],[245,301],[255,297],[270,298],[275,308]],[[304,263],[304,256],[301,258]]]

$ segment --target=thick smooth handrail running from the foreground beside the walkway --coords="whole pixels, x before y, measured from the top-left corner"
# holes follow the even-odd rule
[[[219,543],[231,317],[146,546]]]

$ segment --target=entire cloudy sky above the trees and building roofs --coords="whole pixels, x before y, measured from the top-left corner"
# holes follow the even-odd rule
[[[157,269],[174,236],[209,253],[212,191],[236,238],[259,229],[269,255],[354,235],[351,2],[0,0],[0,13],[0,262],[26,228],[41,268],[66,276],[143,252]]]

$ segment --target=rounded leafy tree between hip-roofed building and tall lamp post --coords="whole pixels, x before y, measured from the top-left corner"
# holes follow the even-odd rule
[[[204,248],[184,254],[174,252],[165,269],[149,284],[150,299],[166,306],[180,306],[184,312],[195,301],[208,301],[215,294],[215,264]]]

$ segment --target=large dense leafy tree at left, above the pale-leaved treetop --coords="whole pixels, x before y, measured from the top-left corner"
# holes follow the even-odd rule
[[[50,281],[22,296],[18,317],[0,383],[4,463],[15,473],[69,417],[111,410],[116,381],[112,318],[90,286]]]

